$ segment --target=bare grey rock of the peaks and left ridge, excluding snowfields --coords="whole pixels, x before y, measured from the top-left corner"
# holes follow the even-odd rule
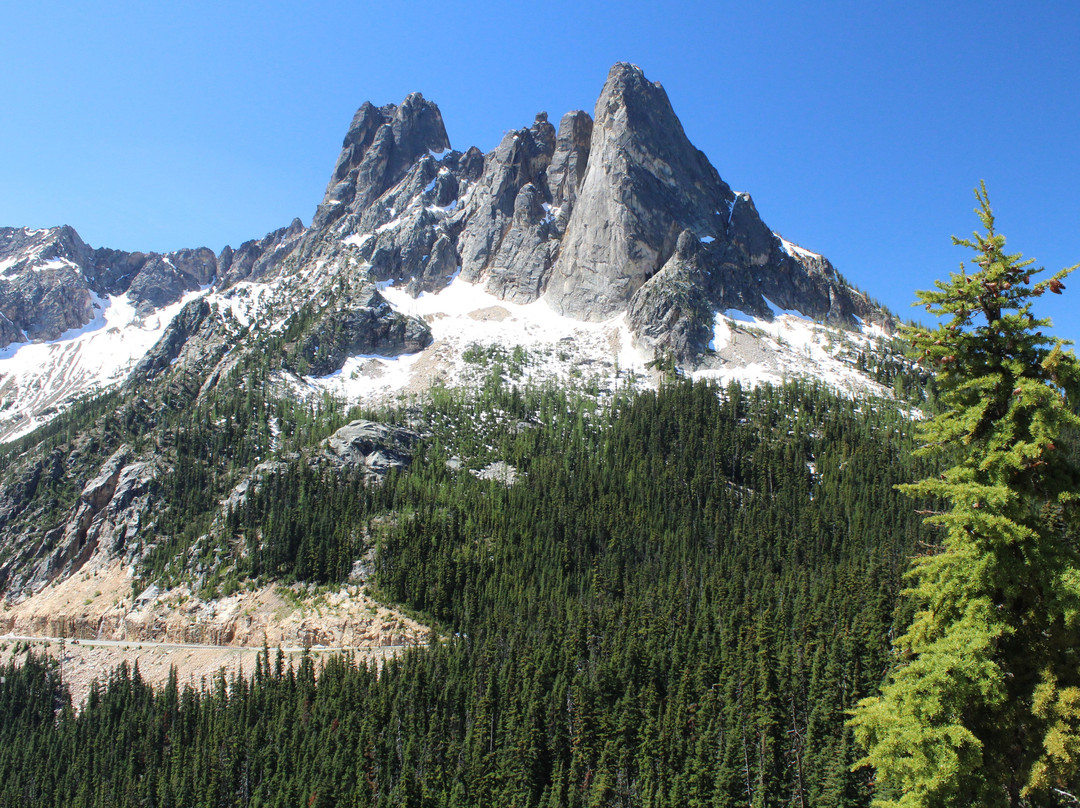
[[[643,347],[685,361],[705,351],[714,313],[729,308],[887,324],[827,260],[780,239],[748,194],[732,192],[636,66],[611,68],[594,117],[568,112],[556,131],[541,112],[486,156],[448,148],[438,107],[419,93],[401,105],[365,103],[311,227],[295,219],[216,256],[92,250],[70,228],[0,230],[0,348],[84,326],[107,295],[127,294],[149,314],[210,283],[221,293],[291,278],[281,295],[295,300],[274,300],[274,318],[323,300],[327,311],[296,335],[294,356],[305,372],[332,373],[350,351],[396,355],[430,342],[427,326],[391,317],[384,301],[336,305],[343,293],[324,293],[342,288],[345,275],[347,296],[369,282],[416,296],[459,272],[502,299],[542,296],[581,320],[627,312]],[[205,336],[199,311],[168,329],[136,379]]]

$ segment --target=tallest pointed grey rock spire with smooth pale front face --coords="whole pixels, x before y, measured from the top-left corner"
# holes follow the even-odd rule
[[[734,194],[693,148],[659,83],[611,68],[596,102],[584,180],[546,299],[582,320],[624,311],[683,230],[721,237]]]

